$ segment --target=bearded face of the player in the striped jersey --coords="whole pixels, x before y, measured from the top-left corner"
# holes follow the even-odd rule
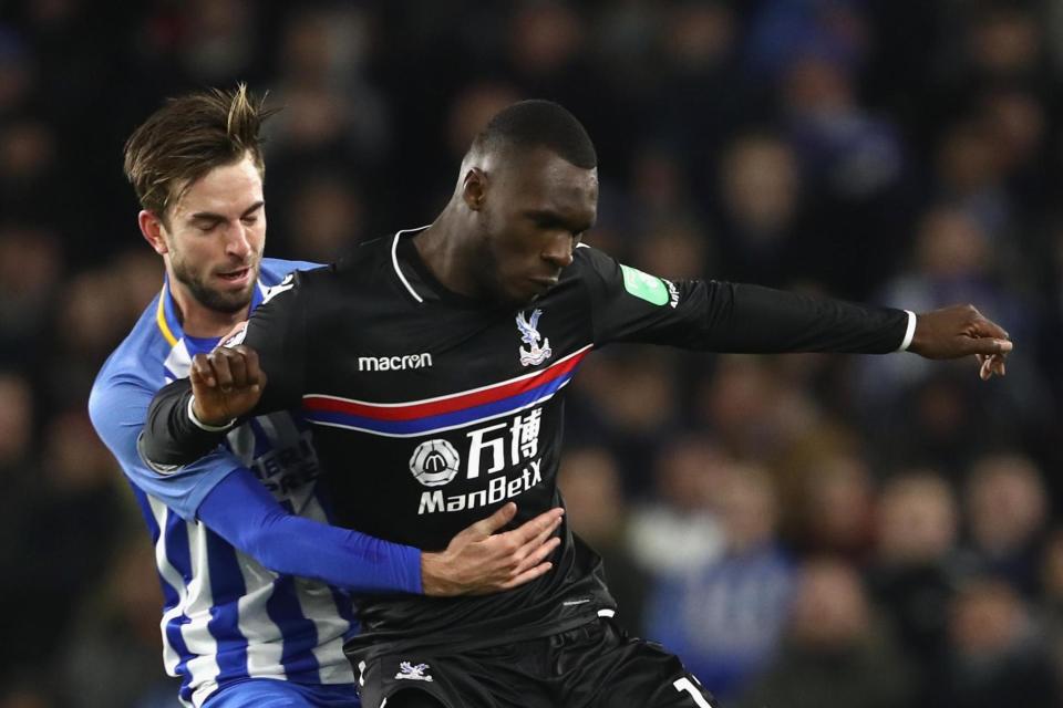
[[[202,305],[239,312],[251,302],[266,244],[262,178],[249,156],[192,184],[163,227],[173,278]]]

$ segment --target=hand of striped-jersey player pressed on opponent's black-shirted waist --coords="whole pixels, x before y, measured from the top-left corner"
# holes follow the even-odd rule
[[[421,554],[425,595],[486,595],[510,590],[553,568],[547,556],[560,545],[554,535],[565,510],[550,509],[520,527],[497,533],[517,513],[506,503],[498,511],[458,532],[441,553]]]

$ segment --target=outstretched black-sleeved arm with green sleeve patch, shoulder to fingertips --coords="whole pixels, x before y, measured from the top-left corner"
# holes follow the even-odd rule
[[[592,248],[587,269],[595,342],[649,342],[721,353],[908,350],[930,358],[982,357],[982,377],[1004,373],[1008,334],[971,305],[914,314],[714,280],[668,281]]]

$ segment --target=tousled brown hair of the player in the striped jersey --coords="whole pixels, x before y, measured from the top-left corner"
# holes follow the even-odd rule
[[[259,132],[276,112],[267,110],[245,84],[167,101],[125,143],[125,176],[141,207],[165,222],[167,208],[189,185],[246,153],[265,176]]]

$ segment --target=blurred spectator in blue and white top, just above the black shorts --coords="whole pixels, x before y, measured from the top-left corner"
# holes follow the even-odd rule
[[[776,538],[777,500],[768,472],[733,461],[723,467],[714,491],[723,553],[657,579],[646,632],[682,654],[691,673],[727,701],[773,657],[794,569]]]

